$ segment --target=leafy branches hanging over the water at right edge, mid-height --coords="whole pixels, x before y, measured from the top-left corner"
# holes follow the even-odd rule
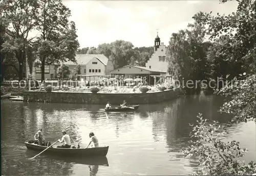
[[[247,119],[253,119],[256,115],[256,78],[255,74],[247,77],[245,80],[232,80],[231,85],[226,85],[220,90],[216,90],[219,95],[231,95],[232,99],[225,102],[220,111],[233,114],[232,122],[247,122]]]

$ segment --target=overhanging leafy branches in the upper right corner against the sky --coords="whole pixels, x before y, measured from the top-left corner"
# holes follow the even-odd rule
[[[226,0],[222,0],[225,3]],[[197,22],[207,24],[207,34],[213,41],[221,40],[218,52],[214,52],[216,59],[223,58],[226,64],[231,63],[228,71],[236,70],[230,79],[243,72],[255,72],[255,1],[238,1],[236,12],[229,15],[217,16],[199,12],[193,17]],[[222,36],[222,38],[220,38]],[[219,41],[218,41],[219,40]],[[215,58],[212,58],[213,61]],[[224,62],[223,61],[223,62]],[[218,61],[217,61],[218,62]],[[230,74],[229,73],[229,74]],[[225,77],[225,75],[224,75]]]

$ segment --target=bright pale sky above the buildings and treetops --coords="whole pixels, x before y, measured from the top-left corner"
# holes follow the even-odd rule
[[[125,40],[135,47],[153,46],[157,36],[168,45],[172,33],[186,29],[197,12],[236,12],[230,1],[74,1],[63,0],[76,23],[80,48]]]

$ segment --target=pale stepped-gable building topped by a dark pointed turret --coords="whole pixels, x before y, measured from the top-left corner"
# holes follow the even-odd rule
[[[146,68],[167,72],[168,62],[166,60],[166,52],[167,47],[163,43],[161,43],[161,40],[158,37],[157,33],[157,37],[155,38],[154,54],[146,62]]]

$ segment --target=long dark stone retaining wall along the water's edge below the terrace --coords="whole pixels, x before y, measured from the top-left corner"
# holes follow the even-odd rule
[[[24,101],[46,103],[74,103],[105,105],[110,100],[112,105],[119,105],[125,99],[128,104],[150,104],[176,98],[179,89],[150,93],[83,93],[83,92],[43,92],[24,91]]]

